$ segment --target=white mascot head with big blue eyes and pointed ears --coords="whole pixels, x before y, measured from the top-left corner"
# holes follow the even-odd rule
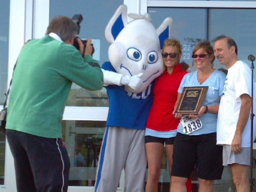
[[[143,73],[143,84],[138,90],[125,88],[140,93],[163,72],[161,48],[170,36],[173,19],[167,17],[156,30],[148,14],[129,16],[134,20],[127,23],[127,7],[119,6],[105,28],[105,37],[111,43],[109,59],[117,73],[130,76]]]

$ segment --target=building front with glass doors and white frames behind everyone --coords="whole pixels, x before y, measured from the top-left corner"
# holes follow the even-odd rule
[[[158,1],[158,0],[9,0],[0,6],[0,109],[12,77],[12,70],[20,49],[29,39],[45,35],[49,21],[58,15],[72,17],[82,14],[80,38],[92,38],[94,58],[102,64],[108,61],[108,47],[104,30],[119,5],[126,4],[128,13],[149,13],[155,27],[166,17],[174,20],[172,37],[183,46],[181,61],[193,66],[191,52],[201,40],[211,41],[225,34],[236,40],[240,60],[256,55],[256,1]],[[43,56],[43,55],[42,55]],[[215,68],[223,68],[218,60]],[[252,70],[252,73],[255,72]],[[98,155],[108,114],[108,96],[100,91],[87,91],[76,84],[68,98],[63,115],[63,138],[71,161],[69,191],[94,191]],[[256,145],[253,145],[255,155]],[[78,165],[82,161],[82,165]],[[166,159],[162,163],[160,183],[168,188],[169,176]],[[123,191],[124,179],[120,179],[118,191]],[[145,176],[146,177],[146,176]],[[196,177],[194,185],[197,185]],[[255,163],[254,163],[254,178]],[[196,187],[195,187],[196,188]],[[196,190],[196,189],[195,189]],[[216,191],[232,190],[230,170],[224,169],[222,180],[216,182]],[[0,192],[16,191],[13,158],[0,133]],[[168,189],[166,190],[168,191]],[[255,190],[256,191],[256,190]]]

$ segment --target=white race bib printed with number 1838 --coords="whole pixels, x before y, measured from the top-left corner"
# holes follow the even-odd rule
[[[200,130],[203,126],[199,118],[182,117],[181,124],[183,126],[183,133],[190,134]]]

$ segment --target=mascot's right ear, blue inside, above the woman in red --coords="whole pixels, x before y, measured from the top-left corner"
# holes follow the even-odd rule
[[[158,27],[157,34],[160,40],[160,47],[163,49],[164,41],[170,38],[170,29],[172,29],[173,18],[167,17],[163,20],[163,23]]]

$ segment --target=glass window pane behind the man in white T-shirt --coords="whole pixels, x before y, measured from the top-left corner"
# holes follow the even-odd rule
[[[238,58],[250,66],[248,55],[256,53],[256,26],[251,25],[256,22],[256,9],[209,9],[209,18],[209,39],[230,36],[238,45]],[[215,66],[223,67],[217,59]]]

